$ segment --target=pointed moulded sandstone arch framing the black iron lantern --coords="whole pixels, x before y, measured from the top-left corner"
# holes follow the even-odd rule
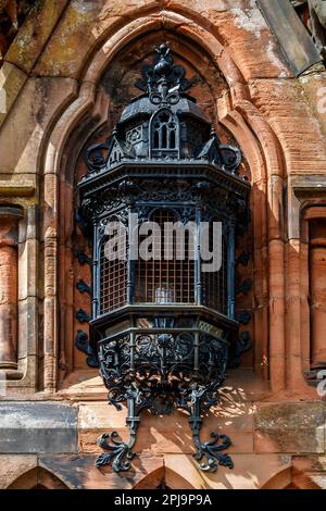
[[[178,11],[177,8],[176,11]],[[237,139],[249,162],[252,183],[254,184],[252,194],[255,204],[255,215],[253,219],[254,236],[265,244],[266,252],[271,252],[272,263],[267,265],[268,267],[266,266],[266,258],[263,251],[256,250],[254,253],[255,266],[260,273],[260,277],[254,283],[254,286],[258,286],[258,301],[260,302],[258,306],[260,312],[258,310],[255,312],[258,314],[259,326],[254,326],[254,337],[256,340],[254,348],[255,367],[260,371],[262,360],[269,358],[269,363],[264,365],[263,373],[265,379],[269,379],[273,391],[279,391],[285,388],[286,374],[289,369],[291,369],[291,378],[297,378],[297,382],[300,381],[306,389],[301,361],[289,358],[288,362],[286,362],[285,298],[278,290],[278,286],[285,287],[285,282],[276,284],[274,279],[275,271],[283,267],[285,261],[283,225],[278,221],[281,216],[285,178],[283,148],[275,130],[264,117],[262,111],[251,100],[246,78],[240,67],[235,63],[227,48],[222,47],[218,40],[218,30],[211,33],[206,24],[201,23],[198,16],[195,16],[196,21],[193,21],[191,13],[188,11],[183,11],[183,13],[176,11],[167,10],[155,14],[149,13],[148,17],[141,17],[142,13],[139,12],[137,15],[140,14],[140,17],[123,27],[115,27],[115,32],[111,27],[110,38],[104,40],[103,36],[101,39],[102,46],[99,45],[93,52],[88,53],[88,58],[85,60],[79,92],[77,97],[75,96],[75,99],[71,96],[61,105],[61,112],[60,109],[58,110],[58,121],[47,133],[48,142],[42,145],[41,151],[37,157],[45,172],[43,199],[50,212],[43,225],[45,242],[54,242],[55,250],[60,252],[62,249],[62,258],[63,260],[65,259],[66,256],[63,253],[64,247],[59,247],[58,237],[57,235],[53,236],[52,226],[57,225],[54,227],[55,233],[55,228],[58,228],[61,222],[60,217],[72,216],[72,212],[67,211],[71,198],[73,198],[71,183],[67,185],[68,200],[64,199],[65,195],[62,191],[59,191],[59,194],[53,191],[65,186],[65,178],[63,177],[63,174],[66,173],[65,169],[68,169],[71,172],[72,167],[74,167],[67,161],[66,155],[71,150],[70,144],[74,129],[77,128],[79,133],[79,140],[77,141],[77,147],[75,146],[75,153],[73,155],[76,162],[78,158],[78,150],[76,149],[79,148],[82,150],[83,144],[86,142],[86,134],[95,133],[106,121],[106,111],[102,107],[105,104],[108,108],[109,103],[108,100],[105,103],[103,97],[99,99],[97,89],[103,71],[124,48],[129,48],[130,50],[133,43],[136,40],[140,40],[143,35],[155,34],[160,38],[161,33],[165,34],[168,32],[170,34],[176,34],[179,48],[185,41],[188,41],[188,48],[191,43],[193,47],[201,48],[209,55],[212,65],[226,79],[228,90],[220,98],[214,98],[216,119]],[[193,29],[193,24],[196,29]],[[129,51],[129,55],[130,53],[133,52]],[[206,68],[201,68],[200,72],[205,75]],[[214,89],[213,83],[212,89]],[[62,208],[60,216],[58,214],[59,208]],[[262,219],[262,222],[256,222],[255,219]],[[70,222],[65,221],[64,226],[60,228],[64,230],[68,225]],[[273,246],[268,246],[269,236],[273,236],[273,239],[275,239]],[[48,321],[45,324],[43,332],[45,338],[52,339],[51,350],[46,353],[43,381],[45,387],[53,390],[58,382],[55,358],[59,356],[62,359],[61,366],[70,365],[65,351],[67,344],[72,342],[71,339],[74,338],[74,332],[70,326],[73,322],[74,312],[72,302],[65,303],[64,300],[60,299],[60,306],[58,303],[59,295],[62,296],[64,294],[68,296],[71,292],[68,289],[68,286],[71,286],[70,281],[65,279],[63,282],[62,278],[60,279],[58,262],[54,261],[53,263],[53,258],[48,258],[46,254],[41,272],[45,275],[46,288],[48,287],[47,283],[50,275],[51,284],[49,283],[49,286],[51,290],[53,287],[53,276],[54,281],[59,283],[59,286],[54,286],[55,289],[51,292],[51,296],[46,297],[48,311],[50,311],[49,313],[53,321]],[[71,270],[71,273],[73,273],[73,270]],[[266,289],[265,294],[260,292],[262,287]],[[268,294],[273,297],[275,296],[272,308]],[[59,335],[59,323],[55,321],[55,317],[60,307],[64,307],[65,312]],[[264,312],[262,313],[262,311]],[[268,332],[268,338],[263,335],[264,332]],[[59,344],[60,337],[62,340]],[[68,350],[72,351],[71,348]]]

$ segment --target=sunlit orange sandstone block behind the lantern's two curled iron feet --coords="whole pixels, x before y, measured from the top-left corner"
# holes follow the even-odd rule
[[[101,452],[97,446],[103,433],[117,431],[126,441],[129,436],[126,427],[126,409],[116,411],[104,402],[80,403],[78,414],[79,449],[83,452]],[[229,452],[253,452],[252,435],[253,410],[250,404],[239,404],[229,399],[225,406],[216,408],[205,417],[201,432],[203,441],[212,432],[229,435],[233,441]],[[135,450],[140,453],[163,454],[166,452],[193,453],[188,414],[176,411],[160,417],[149,412],[141,413]]]

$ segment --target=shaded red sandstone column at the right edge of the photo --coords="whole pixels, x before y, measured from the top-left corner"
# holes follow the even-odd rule
[[[311,340],[313,364],[326,363],[326,219],[310,222]]]

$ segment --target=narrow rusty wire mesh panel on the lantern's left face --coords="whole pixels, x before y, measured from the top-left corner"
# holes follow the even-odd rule
[[[100,314],[123,307],[127,300],[127,262],[120,257],[108,259],[108,240],[104,239],[100,251]]]

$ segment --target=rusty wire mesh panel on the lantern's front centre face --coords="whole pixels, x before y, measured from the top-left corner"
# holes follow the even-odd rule
[[[152,258],[145,261],[139,258],[136,269],[135,301],[192,303],[195,301],[195,261],[190,242],[191,235],[187,229],[184,229],[184,234],[172,229],[177,217],[171,210],[155,212],[151,222],[160,226],[160,229],[154,230],[153,234],[153,252],[155,256],[160,254],[160,259]],[[179,236],[184,236],[184,241]],[[141,238],[140,236],[140,244]]]

